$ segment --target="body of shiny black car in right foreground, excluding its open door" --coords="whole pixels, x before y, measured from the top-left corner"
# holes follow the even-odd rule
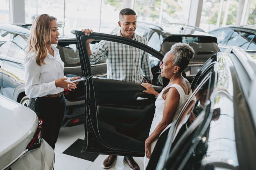
[[[184,114],[194,112],[187,102],[170,128],[157,170],[256,169],[256,63],[240,47],[213,55],[192,82],[196,95],[208,86],[205,105],[192,123],[179,132]],[[197,106],[196,106],[197,107]],[[158,154],[159,156],[159,154]],[[152,155],[153,162],[156,155]],[[148,167],[147,169],[152,169]]]

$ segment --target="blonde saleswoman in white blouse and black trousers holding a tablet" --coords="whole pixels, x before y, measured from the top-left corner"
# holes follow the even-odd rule
[[[77,88],[64,76],[64,62],[59,50],[56,18],[47,14],[36,17],[28,40],[25,61],[25,93],[30,98],[30,107],[43,120],[42,137],[54,149],[63,120],[66,101],[64,89]],[[80,77],[72,77],[74,80]]]

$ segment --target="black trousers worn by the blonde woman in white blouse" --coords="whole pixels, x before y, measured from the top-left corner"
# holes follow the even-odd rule
[[[61,97],[33,99],[29,106],[43,120],[42,137],[54,149],[66,109],[65,97],[62,94]]]

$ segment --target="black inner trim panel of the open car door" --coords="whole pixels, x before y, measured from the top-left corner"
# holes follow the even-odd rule
[[[108,122],[120,134],[145,140],[154,116],[154,95],[142,92],[143,87],[133,82],[94,78],[93,84],[100,120]],[[155,89],[161,92],[162,87],[155,86]],[[138,97],[142,100],[137,100]]]

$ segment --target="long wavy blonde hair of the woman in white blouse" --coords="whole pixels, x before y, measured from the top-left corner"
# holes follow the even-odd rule
[[[30,36],[28,38],[28,51],[36,52],[36,63],[41,66],[45,64],[44,59],[47,56],[46,46],[51,43],[51,26],[52,20],[57,20],[55,17],[48,14],[38,15],[33,21]]]

